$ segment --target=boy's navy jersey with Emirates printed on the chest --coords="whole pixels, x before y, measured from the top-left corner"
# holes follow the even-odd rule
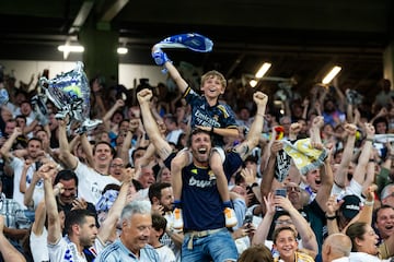
[[[235,114],[230,106],[220,103],[209,106],[207,99],[198,95],[190,87],[186,88],[184,98],[192,106],[192,129],[196,126],[228,129],[235,129],[237,127]],[[223,138],[219,134],[213,134],[213,144],[217,146],[224,145]]]

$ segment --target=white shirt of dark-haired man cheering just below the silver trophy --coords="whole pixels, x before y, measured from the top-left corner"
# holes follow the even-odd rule
[[[76,158],[78,160],[78,158]],[[78,177],[78,196],[96,204],[102,196],[103,189],[108,183],[120,186],[120,181],[114,177],[102,175],[78,160],[74,170]]]

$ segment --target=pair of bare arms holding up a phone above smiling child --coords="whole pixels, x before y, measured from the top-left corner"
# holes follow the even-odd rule
[[[298,187],[294,188],[296,190],[299,189]],[[255,231],[252,245],[264,243],[271,249],[273,253],[277,253],[277,250],[275,250],[275,247],[273,246],[273,241],[268,240],[269,231],[267,230],[267,228],[271,227],[274,222],[275,229],[280,227],[292,228],[296,231],[297,237],[300,238],[298,249],[310,254],[312,258],[316,257],[318,248],[315,234],[305,218],[294,209],[289,199],[287,196],[285,198],[282,195],[268,193],[267,198],[264,196],[264,202],[267,211]],[[281,210],[278,211],[278,207]]]

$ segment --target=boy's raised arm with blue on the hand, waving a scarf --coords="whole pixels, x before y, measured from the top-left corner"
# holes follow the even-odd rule
[[[188,84],[182,78],[181,73],[174,67],[172,61],[169,59],[167,55],[162,49],[160,49],[159,47],[153,46],[153,48],[152,48],[152,58],[154,59],[154,62],[158,66],[164,67],[169,71],[170,76],[176,83],[179,92],[182,94],[185,93]]]

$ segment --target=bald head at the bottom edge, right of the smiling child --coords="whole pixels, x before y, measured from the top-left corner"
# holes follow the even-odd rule
[[[349,257],[351,251],[351,240],[341,233],[329,235],[323,243],[322,257],[323,262],[333,261],[335,259]]]

